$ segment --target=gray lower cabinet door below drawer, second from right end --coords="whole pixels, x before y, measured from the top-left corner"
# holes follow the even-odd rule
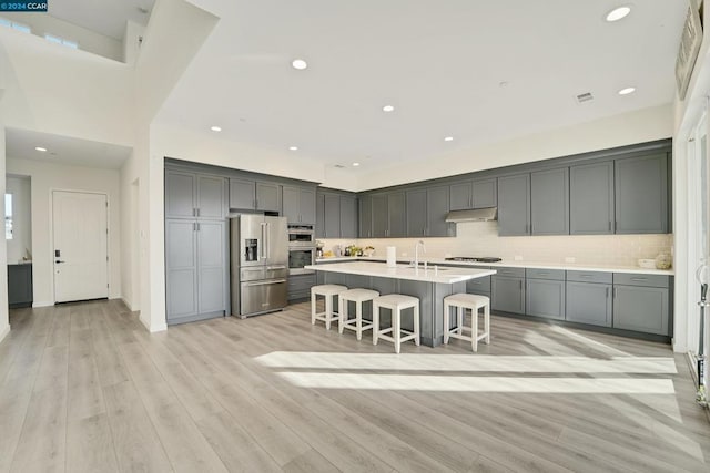
[[[611,285],[567,281],[567,320],[611,327]]]

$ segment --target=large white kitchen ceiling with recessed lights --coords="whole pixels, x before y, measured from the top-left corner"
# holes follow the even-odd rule
[[[627,2],[195,3],[221,21],[159,120],[363,171],[672,102],[686,8],[636,0],[607,23]]]

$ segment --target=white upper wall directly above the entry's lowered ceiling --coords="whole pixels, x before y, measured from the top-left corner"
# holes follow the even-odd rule
[[[133,144],[133,68],[122,62],[0,28],[0,89],[7,127]]]

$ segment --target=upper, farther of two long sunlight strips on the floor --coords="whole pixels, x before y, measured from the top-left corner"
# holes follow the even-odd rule
[[[338,353],[314,351],[273,351],[255,360],[272,368],[462,371],[462,372],[528,372],[528,373],[639,373],[674,374],[672,358],[491,354],[425,354],[425,353]]]

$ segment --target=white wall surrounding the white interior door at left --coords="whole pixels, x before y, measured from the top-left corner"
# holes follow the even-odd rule
[[[109,297],[121,294],[121,194],[119,172],[51,162],[7,158],[7,172],[32,179],[32,285],[34,307],[54,304],[52,191],[104,193],[109,197]]]

